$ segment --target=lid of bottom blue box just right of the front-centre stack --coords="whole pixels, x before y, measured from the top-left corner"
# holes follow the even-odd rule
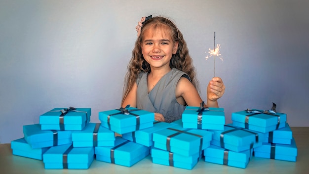
[[[230,151],[221,147],[210,145],[204,149],[204,156],[215,157],[215,158],[226,158],[231,161],[237,161],[247,163],[251,157],[251,150],[244,150],[241,152]]]

